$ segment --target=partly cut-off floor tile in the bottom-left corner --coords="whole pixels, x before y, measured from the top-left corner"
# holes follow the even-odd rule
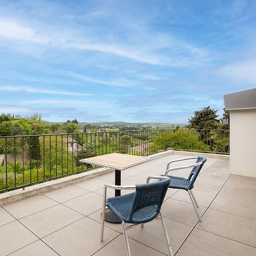
[[[0,226],[0,255],[13,253],[38,238],[18,221]]]

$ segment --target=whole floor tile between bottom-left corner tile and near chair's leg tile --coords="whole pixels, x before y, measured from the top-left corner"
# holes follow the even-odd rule
[[[82,217],[84,216],[64,205],[56,205],[42,210],[42,212],[21,218],[20,222],[41,238]]]

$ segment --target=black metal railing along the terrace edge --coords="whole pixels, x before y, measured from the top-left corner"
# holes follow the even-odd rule
[[[229,130],[136,130],[0,137],[0,193],[92,168],[82,158],[168,149],[229,154]]]

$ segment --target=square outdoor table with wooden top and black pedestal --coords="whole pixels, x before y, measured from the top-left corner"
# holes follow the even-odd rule
[[[106,154],[94,156],[92,158],[81,159],[81,163],[95,164],[97,166],[109,167],[115,170],[115,185],[121,185],[121,171],[136,166],[137,164],[146,162],[150,158],[146,156],[138,155],[126,155],[126,154]],[[120,196],[121,191],[115,189],[115,196]],[[105,220],[108,222],[119,223],[120,221],[114,216],[114,214],[109,210],[106,211]]]

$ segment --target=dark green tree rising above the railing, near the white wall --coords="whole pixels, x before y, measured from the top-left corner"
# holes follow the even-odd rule
[[[195,111],[194,116],[188,119],[189,128],[192,129],[217,129],[220,121],[217,119],[217,110],[210,109],[210,106]]]

